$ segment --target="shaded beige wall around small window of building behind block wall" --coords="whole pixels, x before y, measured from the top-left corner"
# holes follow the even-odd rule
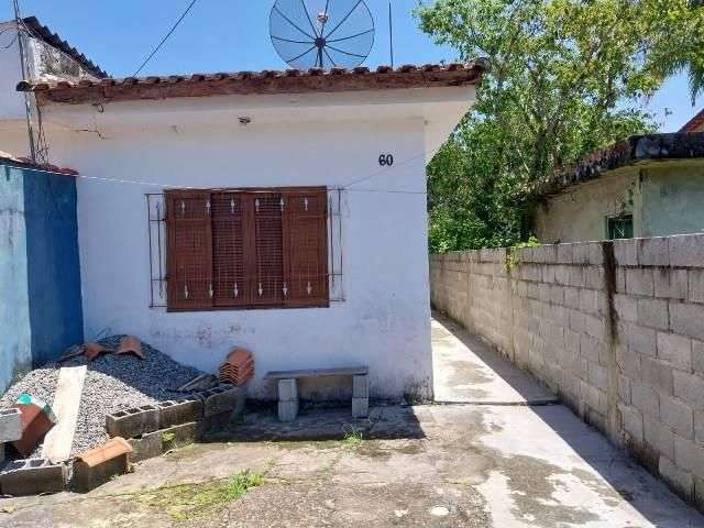
[[[604,240],[606,217],[622,212],[634,215],[634,230],[639,235],[638,172],[614,173],[547,198],[534,217],[538,240],[544,244]]]

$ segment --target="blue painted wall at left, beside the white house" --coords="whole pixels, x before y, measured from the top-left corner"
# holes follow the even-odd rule
[[[0,211],[2,392],[82,342],[76,178],[0,165]]]

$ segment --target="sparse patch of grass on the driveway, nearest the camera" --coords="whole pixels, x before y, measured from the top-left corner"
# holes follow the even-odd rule
[[[136,501],[166,512],[176,520],[185,520],[226,507],[263,481],[263,474],[248,470],[219,481],[160,487],[144,492]]]

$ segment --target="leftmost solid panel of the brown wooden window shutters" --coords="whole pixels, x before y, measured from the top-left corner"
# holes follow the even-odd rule
[[[204,309],[212,306],[212,234],[210,194],[167,191],[168,308]]]

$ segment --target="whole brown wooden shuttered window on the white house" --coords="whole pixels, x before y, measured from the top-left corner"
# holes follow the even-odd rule
[[[328,306],[326,188],[167,190],[164,202],[169,311]]]

